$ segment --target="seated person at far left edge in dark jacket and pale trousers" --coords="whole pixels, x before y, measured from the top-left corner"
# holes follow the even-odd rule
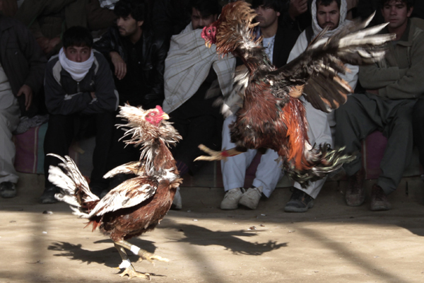
[[[34,100],[42,88],[46,59],[19,21],[0,13],[0,30],[0,196],[15,197],[18,174],[12,132],[20,116],[36,114]]]

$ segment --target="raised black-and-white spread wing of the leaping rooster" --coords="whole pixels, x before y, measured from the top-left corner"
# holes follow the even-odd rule
[[[387,23],[364,29],[372,17],[363,23],[353,23],[329,38],[317,35],[307,50],[292,62],[267,74],[273,94],[304,95],[314,108],[331,112],[347,100],[351,86],[338,74],[346,74],[344,64],[363,65],[381,60],[386,52],[386,42],[394,34],[379,34]]]

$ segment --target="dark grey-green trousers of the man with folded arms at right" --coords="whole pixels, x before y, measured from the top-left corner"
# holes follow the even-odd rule
[[[411,161],[413,134],[412,110],[416,100],[390,100],[370,93],[353,93],[346,104],[336,110],[336,146],[346,146],[346,152],[360,151],[362,139],[376,130],[387,137],[387,146],[380,163],[382,173],[377,185],[386,194],[396,190],[404,169]],[[360,155],[345,163],[346,174],[351,176],[362,166]]]

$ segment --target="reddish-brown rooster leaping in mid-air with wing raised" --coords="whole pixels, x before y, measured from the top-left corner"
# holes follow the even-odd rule
[[[386,24],[363,29],[371,21],[355,23],[340,33],[324,38],[322,31],[297,59],[276,69],[261,46],[261,38],[253,39],[252,20],[256,14],[245,1],[224,6],[218,21],[204,28],[201,36],[206,46],[216,45],[218,54],[232,53],[245,64],[236,71],[235,90],[242,97],[242,108],[230,125],[234,149],[211,151],[199,147],[210,156],[197,160],[221,160],[247,149],[273,149],[283,159],[283,170],[302,185],[324,178],[337,170],[351,156],[343,149],[332,150],[327,144],[312,146],[307,138],[305,96],[314,108],[324,112],[338,108],[353,92],[338,73],[345,74],[345,63],[371,64],[382,59],[385,43],[394,35],[375,35]],[[224,98],[223,112],[236,103],[235,96]],[[225,114],[225,113],[224,113]]]

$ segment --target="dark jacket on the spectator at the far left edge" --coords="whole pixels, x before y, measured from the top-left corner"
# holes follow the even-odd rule
[[[0,15],[0,62],[11,84],[13,95],[26,84],[33,90],[33,103],[25,111],[25,96],[18,98],[23,116],[36,114],[35,101],[45,73],[47,59],[30,30],[20,21]]]

